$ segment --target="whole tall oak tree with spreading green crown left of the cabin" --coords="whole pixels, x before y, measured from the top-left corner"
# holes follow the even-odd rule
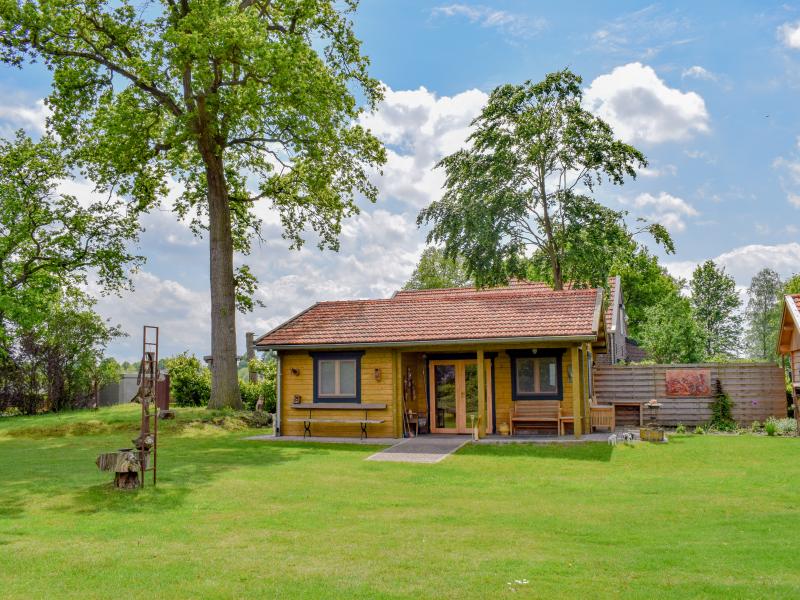
[[[293,247],[313,229],[336,248],[380,143],[354,124],[367,72],[348,13],[356,0],[0,0],[0,52],[53,71],[51,126],[86,175],[149,210],[169,178],[181,217],[207,229],[213,391],[240,406],[235,312],[252,307],[254,203],[278,210]],[[238,287],[237,287],[238,284]],[[237,298],[238,292],[238,298]]]

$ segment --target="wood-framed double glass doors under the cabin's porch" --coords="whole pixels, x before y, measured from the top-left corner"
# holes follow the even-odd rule
[[[430,382],[431,431],[471,433],[478,422],[478,363],[433,360]]]

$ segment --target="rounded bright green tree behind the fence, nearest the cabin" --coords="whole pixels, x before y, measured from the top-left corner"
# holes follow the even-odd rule
[[[703,332],[689,300],[676,291],[650,308],[640,336],[642,347],[659,363],[693,363],[704,357]]]

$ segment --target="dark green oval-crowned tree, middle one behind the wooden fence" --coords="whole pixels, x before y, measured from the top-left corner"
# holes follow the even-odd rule
[[[707,260],[699,265],[689,281],[694,318],[703,332],[707,356],[736,356],[740,346],[741,299],[733,277]]]

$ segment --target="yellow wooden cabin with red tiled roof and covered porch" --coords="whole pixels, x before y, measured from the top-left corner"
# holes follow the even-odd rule
[[[278,356],[276,435],[580,437],[603,297],[514,282],[317,303],[255,342]]]

